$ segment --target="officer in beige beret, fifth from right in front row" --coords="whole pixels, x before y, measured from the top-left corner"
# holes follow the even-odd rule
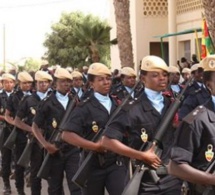
[[[36,114],[37,106],[41,100],[43,100],[48,92],[49,86],[52,81],[52,76],[44,71],[37,71],[35,74],[36,91],[30,96],[26,96],[21,102],[16,113],[15,125],[25,132],[28,132],[29,136],[32,135],[32,122],[33,117]],[[23,121],[25,119],[25,121]],[[30,138],[29,137],[29,138]],[[41,194],[41,179],[37,177],[37,172],[42,164],[43,151],[37,142],[33,143],[30,159],[30,181],[31,181],[31,194]]]

